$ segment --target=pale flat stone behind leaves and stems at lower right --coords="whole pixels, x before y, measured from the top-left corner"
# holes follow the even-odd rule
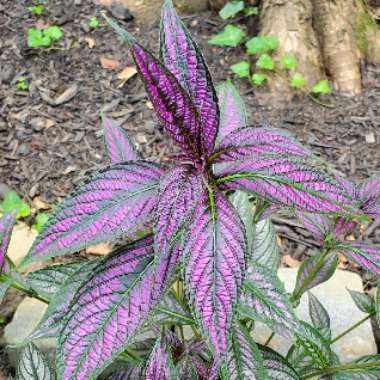
[[[284,283],[286,291],[292,292],[296,283],[297,269],[280,268],[278,275]],[[366,314],[355,306],[347,288],[362,292],[361,278],[355,273],[337,270],[329,281],[311,289],[313,295],[318,298],[330,315],[333,337],[366,316]],[[296,309],[296,314],[300,319],[311,323],[307,295],[302,297],[300,305]],[[266,341],[270,334],[271,330],[261,323],[256,324],[252,333],[254,339],[261,344]],[[271,340],[269,347],[285,355],[290,344],[291,342],[276,334]],[[363,355],[376,354],[377,349],[370,321],[366,321],[345,337],[335,342],[332,348],[342,362],[352,361]]]

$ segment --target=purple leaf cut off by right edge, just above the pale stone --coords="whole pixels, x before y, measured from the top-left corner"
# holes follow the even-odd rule
[[[364,269],[380,276],[380,249],[376,245],[361,241],[345,241],[339,251]]]

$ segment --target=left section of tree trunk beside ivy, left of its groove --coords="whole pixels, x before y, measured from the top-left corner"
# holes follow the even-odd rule
[[[290,74],[301,74],[306,79],[306,89],[323,78],[322,55],[312,27],[310,0],[263,0],[260,7],[259,29],[262,35],[278,38],[279,47],[273,53],[275,59],[279,60],[285,54],[297,58],[297,66]],[[289,75],[281,72],[269,80],[269,89],[270,94],[274,97],[277,95],[281,102],[291,100],[294,95]]]

